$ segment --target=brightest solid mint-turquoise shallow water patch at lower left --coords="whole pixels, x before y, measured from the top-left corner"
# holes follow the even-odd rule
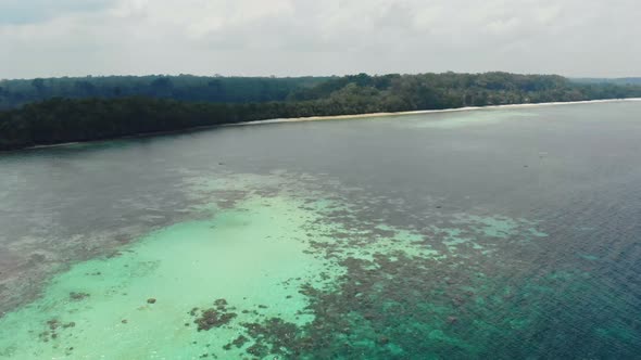
[[[305,252],[307,217],[296,203],[253,200],[211,220],[155,231],[113,257],[74,265],[42,297],[0,320],[0,348],[21,359],[239,356],[236,347],[223,347],[242,333],[242,322],[311,321],[298,313],[307,300],[297,290],[303,282],[322,285],[323,261]],[[189,312],[216,308],[218,299],[228,303],[234,322],[198,332]]]

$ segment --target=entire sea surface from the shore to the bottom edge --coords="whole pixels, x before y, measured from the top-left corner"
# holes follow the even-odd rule
[[[0,154],[0,359],[634,358],[638,102]]]

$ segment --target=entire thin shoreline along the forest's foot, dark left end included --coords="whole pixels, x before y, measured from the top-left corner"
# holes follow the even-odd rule
[[[213,129],[213,128],[218,128],[218,127],[237,127],[237,126],[303,123],[303,121],[323,121],[323,120],[349,120],[349,119],[360,119],[360,118],[378,118],[378,117],[386,117],[386,116],[407,116],[407,115],[420,115],[420,114],[458,113],[458,112],[469,112],[469,111],[478,111],[478,110],[493,110],[493,108],[527,108],[527,107],[539,107],[539,106],[542,107],[542,106],[638,102],[638,101],[641,102],[641,98],[602,99],[602,100],[583,100],[583,101],[549,102],[549,103],[524,103],[524,104],[488,105],[488,106],[466,106],[466,107],[451,107],[451,108],[441,108],[441,110],[419,110],[419,111],[412,111],[412,112],[368,113],[368,114],[353,114],[353,115],[328,115],[328,116],[275,118],[275,119],[234,123],[234,124],[205,125],[205,126],[199,126],[199,127],[194,127],[194,128],[137,133],[137,134],[124,136],[124,137],[118,137],[118,138],[110,138],[110,139],[96,139],[96,140],[88,140],[88,141],[65,142],[65,143],[59,143],[59,144],[35,145],[35,146],[28,146],[28,147],[15,149],[15,150],[3,150],[3,151],[0,151],[0,154],[25,151],[25,150],[42,150],[42,149],[50,149],[50,147],[63,147],[63,146],[70,146],[70,145],[86,144],[86,143],[97,143],[97,142],[101,142],[101,141],[125,140],[125,139],[133,139],[133,138],[147,138],[147,137],[155,137],[155,136],[173,134],[173,133],[186,133],[189,131],[206,130],[206,129]]]

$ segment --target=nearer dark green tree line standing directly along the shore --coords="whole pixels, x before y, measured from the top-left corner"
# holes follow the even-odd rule
[[[360,74],[323,80],[298,78],[293,83],[275,100],[248,95],[252,100],[185,101],[173,92],[166,97],[45,98],[0,112],[0,150],[272,118],[641,98],[641,86],[579,83],[554,75],[507,73]]]

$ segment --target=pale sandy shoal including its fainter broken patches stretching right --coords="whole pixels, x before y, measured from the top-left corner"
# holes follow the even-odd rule
[[[0,358],[298,358],[305,344],[316,340],[305,334],[319,326],[336,332],[337,323],[326,317],[362,317],[339,308],[360,303],[357,293],[348,295],[347,303],[313,307],[324,296],[351,291],[340,284],[355,263],[369,270],[403,258],[423,262],[420,267],[445,265],[458,256],[491,256],[497,244],[483,236],[502,240],[518,233],[523,242],[545,236],[533,222],[505,217],[458,214],[447,223],[435,220],[423,232],[357,220],[359,206],[338,201],[336,193],[304,189],[300,181],[286,175],[186,180],[194,200],[217,194],[193,209],[205,216],[54,275],[39,298],[0,318]],[[235,198],[225,200],[226,193]],[[360,271],[349,277],[360,282]],[[330,310],[335,313],[324,313],[327,307],[337,307]],[[209,319],[206,310],[214,311]],[[438,312],[441,319],[430,326],[433,336],[442,337],[439,327],[447,326],[448,314]],[[199,320],[211,329],[199,331]],[[356,349],[405,351],[393,343],[377,349],[380,344],[366,338],[378,335],[369,334],[372,329],[360,332],[354,333]],[[307,351],[323,356],[324,349],[313,344]]]

